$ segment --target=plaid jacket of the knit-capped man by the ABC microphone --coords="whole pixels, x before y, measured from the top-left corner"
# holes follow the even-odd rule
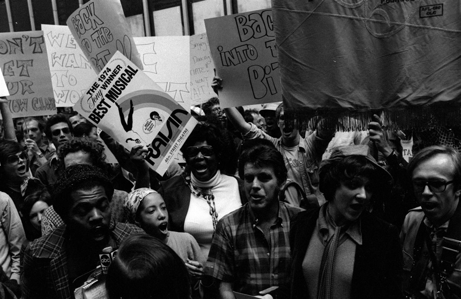
[[[111,221],[110,230],[117,247],[128,236],[144,233],[135,225]],[[30,243],[22,261],[23,299],[72,299],[67,273],[66,225]],[[85,254],[85,253],[82,253]]]

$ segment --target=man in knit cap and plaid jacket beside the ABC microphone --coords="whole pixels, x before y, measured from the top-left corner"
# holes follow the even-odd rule
[[[27,246],[23,259],[23,299],[72,299],[99,264],[105,247],[118,248],[129,235],[144,233],[116,223],[110,201],[114,187],[98,167],[66,168],[53,188],[54,209],[64,225]]]

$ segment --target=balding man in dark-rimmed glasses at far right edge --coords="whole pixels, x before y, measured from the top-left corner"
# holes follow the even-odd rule
[[[420,207],[409,211],[400,233],[407,298],[461,298],[461,155],[432,146],[408,164]]]

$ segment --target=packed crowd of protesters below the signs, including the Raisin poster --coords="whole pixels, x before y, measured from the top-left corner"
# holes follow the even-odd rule
[[[1,299],[461,299],[460,125],[223,105],[219,72],[188,110],[115,55],[54,114],[0,97]]]

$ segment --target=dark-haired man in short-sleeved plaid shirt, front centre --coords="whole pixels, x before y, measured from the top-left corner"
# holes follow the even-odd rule
[[[302,209],[278,200],[287,170],[269,141],[245,142],[238,173],[248,203],[219,221],[205,274],[222,299],[234,299],[232,291],[272,298],[288,282],[290,220]]]

